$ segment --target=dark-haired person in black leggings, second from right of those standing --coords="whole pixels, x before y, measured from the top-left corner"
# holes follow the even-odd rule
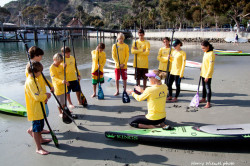
[[[186,52],[181,49],[182,42],[179,39],[176,39],[173,42],[174,51],[172,53],[172,68],[169,76],[168,84],[168,94],[169,97],[167,100],[176,102],[181,90],[181,78],[184,75],[184,69],[186,65]],[[172,85],[175,82],[176,93],[174,99],[172,99]]]

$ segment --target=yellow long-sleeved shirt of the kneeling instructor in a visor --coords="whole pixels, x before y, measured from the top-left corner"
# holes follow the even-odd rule
[[[141,95],[132,93],[133,97],[137,101],[143,101],[147,99],[148,113],[146,118],[149,120],[159,120],[166,117],[166,98],[168,93],[168,87],[166,84],[153,85],[148,87]]]

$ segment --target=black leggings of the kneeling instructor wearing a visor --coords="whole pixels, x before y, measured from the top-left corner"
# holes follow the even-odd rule
[[[166,117],[159,119],[159,120],[150,120],[150,119],[147,119],[145,115],[138,115],[138,116],[132,117],[129,120],[129,125],[132,127],[136,127],[136,126],[138,127],[138,124],[158,125],[158,124],[164,122],[165,119],[166,119]]]

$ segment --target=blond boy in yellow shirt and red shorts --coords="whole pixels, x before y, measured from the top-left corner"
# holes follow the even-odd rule
[[[125,91],[127,85],[127,63],[129,58],[129,47],[127,44],[124,43],[124,39],[125,39],[124,34],[119,33],[117,36],[118,43],[113,44],[112,46],[112,58],[115,61],[115,83],[116,83],[116,93],[114,94],[115,96],[119,95],[119,80],[121,75]],[[116,48],[118,48],[119,60]]]

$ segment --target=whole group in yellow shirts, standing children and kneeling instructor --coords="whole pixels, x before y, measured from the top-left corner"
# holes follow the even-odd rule
[[[132,117],[129,124],[136,128],[155,128],[162,127],[163,129],[171,129],[169,125],[165,125],[166,118],[165,104],[166,101],[177,102],[180,93],[181,78],[184,74],[186,53],[181,49],[182,42],[176,39],[173,42],[172,51],[170,52],[170,39],[164,38],[164,47],[160,48],[157,60],[159,61],[158,70],[148,72],[148,56],[150,54],[150,43],[144,39],[144,30],[138,31],[139,39],[136,40],[131,48],[131,53],[134,54],[133,67],[135,68],[135,88],[128,89],[127,93],[131,94],[137,101],[147,99],[148,113],[146,115],[139,115]],[[117,36],[118,42],[112,46],[112,58],[115,61],[115,80],[116,92],[115,96],[119,95],[119,79],[122,76],[124,89],[126,90],[127,83],[127,62],[129,59],[129,47],[124,43],[124,35],[119,33]],[[203,95],[200,102],[207,102],[205,108],[209,108],[211,101],[211,80],[214,68],[214,53],[213,46],[204,41],[201,43],[204,51],[203,62],[201,67],[200,77],[203,85]],[[96,85],[104,83],[103,68],[106,63],[106,54],[104,52],[105,44],[99,43],[97,48],[91,52],[92,55],[92,84],[93,95],[96,96]],[[65,95],[69,102],[69,107],[73,108],[70,98],[70,92],[76,92],[78,103],[80,101],[80,72],[76,69],[75,58],[70,55],[70,48],[63,47],[61,53],[56,53],[53,56],[53,64],[50,66],[50,76],[52,83],[50,84],[51,91],[54,92],[61,105],[66,104]],[[63,57],[63,55],[65,57]],[[51,97],[50,93],[46,92],[46,82],[42,75],[43,66],[40,63],[44,52],[42,49],[33,46],[29,49],[31,57],[31,64],[26,66],[26,82],[25,82],[25,100],[28,114],[28,120],[32,121],[32,127],[27,132],[34,138],[36,143],[36,152],[42,155],[49,154],[41,146],[42,143],[48,143],[51,139],[42,138],[42,133],[49,133],[44,130],[44,115],[42,107],[46,110],[46,116],[49,114],[47,101]],[[63,62],[65,58],[65,63]],[[168,65],[169,64],[169,65]],[[169,67],[167,67],[169,66]],[[167,71],[167,68],[168,71]],[[78,74],[76,74],[78,72]],[[65,76],[66,73],[66,76]],[[77,77],[78,76],[78,77]],[[35,78],[34,78],[35,77]],[[167,77],[165,84],[162,79]],[[66,78],[66,79],[65,79]],[[140,80],[143,80],[143,86],[140,87]],[[147,87],[147,79],[151,84]],[[172,84],[176,84],[176,94],[172,97]],[[66,86],[65,86],[66,84]],[[66,87],[66,88],[65,88]],[[207,98],[207,101],[206,101]],[[62,117],[61,108],[58,106],[59,116]]]

